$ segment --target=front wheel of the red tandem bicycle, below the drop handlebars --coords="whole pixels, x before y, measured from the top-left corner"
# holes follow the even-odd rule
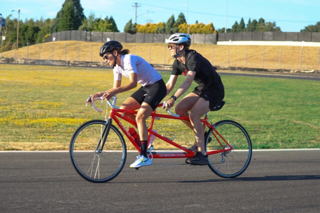
[[[125,141],[110,121],[92,120],[82,124],[73,134],[69,153],[76,172],[85,180],[105,183],[123,169],[126,159]]]

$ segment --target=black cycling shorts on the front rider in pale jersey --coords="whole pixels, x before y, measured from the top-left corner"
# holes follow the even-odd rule
[[[153,84],[141,86],[136,90],[131,97],[134,98],[139,104],[142,102],[147,103],[153,110],[158,106],[161,100],[166,95],[166,86],[164,81],[158,80]]]

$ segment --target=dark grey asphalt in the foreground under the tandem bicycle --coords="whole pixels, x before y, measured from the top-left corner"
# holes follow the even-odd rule
[[[320,211],[320,150],[253,151],[248,169],[223,179],[206,166],[129,165],[93,184],[67,152],[0,152],[0,212],[247,213]],[[154,159],[153,164],[183,163]]]

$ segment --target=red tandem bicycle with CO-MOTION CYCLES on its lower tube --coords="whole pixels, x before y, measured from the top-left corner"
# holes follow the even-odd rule
[[[136,114],[137,111],[119,109],[116,106],[116,99],[112,97],[106,101],[106,108],[111,107],[108,118],[106,116],[105,120],[90,120],[83,123],[76,129],[70,140],[69,154],[72,165],[76,172],[89,182],[105,183],[114,179],[121,172],[127,156],[124,137],[140,152],[139,144],[129,131],[132,128],[126,128],[120,122],[124,120],[136,127],[136,122],[124,115],[125,113]],[[101,98],[96,98],[94,101],[96,100],[101,100]],[[102,112],[94,103],[91,105],[96,111]],[[157,108],[162,105],[162,103],[159,104]],[[148,157],[151,159],[193,157],[195,145],[187,148],[179,145],[175,137],[161,135],[152,130],[153,124],[158,119],[188,121],[189,118],[176,115],[169,109],[167,113],[157,113],[156,110],[150,115],[150,122],[147,126],[148,141],[153,135],[161,142],[170,144],[174,149],[156,150],[151,146],[147,150]],[[208,120],[208,113],[200,120],[206,132],[205,151],[208,155],[210,170],[222,178],[235,178],[241,175],[248,167],[252,155],[251,140],[247,131],[232,120],[221,120],[213,124]]]

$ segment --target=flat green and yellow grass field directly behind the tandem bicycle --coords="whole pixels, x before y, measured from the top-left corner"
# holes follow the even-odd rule
[[[170,73],[160,73],[166,82]],[[255,149],[320,148],[319,81],[230,75],[221,78],[226,104],[210,112],[212,122],[239,122]],[[183,77],[178,80],[181,82]],[[85,99],[111,86],[111,69],[1,64],[0,150],[67,150],[81,123],[104,119],[104,113],[84,107]],[[118,103],[131,92],[119,94]],[[161,134],[170,131],[181,144],[194,140],[179,122],[159,120],[155,129]]]

